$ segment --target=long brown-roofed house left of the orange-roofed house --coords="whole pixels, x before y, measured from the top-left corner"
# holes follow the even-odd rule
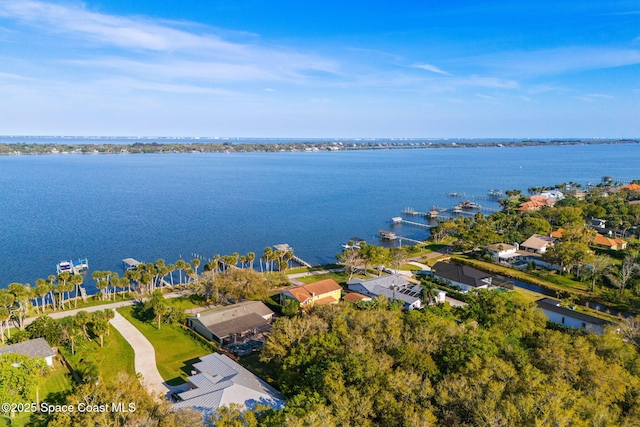
[[[271,329],[273,311],[262,301],[245,301],[187,317],[187,326],[208,340],[230,344]]]

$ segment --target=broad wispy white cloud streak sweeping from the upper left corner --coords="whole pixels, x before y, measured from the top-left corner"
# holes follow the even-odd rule
[[[224,80],[274,80],[314,72],[338,72],[334,61],[316,55],[284,47],[227,41],[212,34],[213,29],[210,28],[209,33],[202,31],[204,34],[175,28],[188,27],[185,23],[106,15],[91,12],[85,7],[34,0],[2,0],[0,17],[19,21],[49,35],[68,37],[78,45],[78,56],[80,53],[100,55],[107,49],[113,55],[116,49],[118,58],[115,64],[109,64],[111,58],[102,62],[110,68],[128,62],[136,68],[160,67],[174,76],[210,73],[212,78]],[[87,41],[90,45],[86,44]],[[82,47],[91,48],[91,51],[82,50]],[[140,59],[123,59],[134,54]],[[92,61],[96,65],[100,63],[100,60],[93,59],[76,60],[75,63],[88,65]],[[188,71],[187,66],[194,70]]]

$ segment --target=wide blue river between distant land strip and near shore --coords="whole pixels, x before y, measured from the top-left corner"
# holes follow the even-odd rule
[[[311,263],[331,262],[351,237],[377,241],[405,207],[456,204],[449,192],[634,179],[639,164],[637,144],[5,156],[0,286],[33,284],[55,273],[60,260],[81,257],[91,269],[121,271],[127,257],[259,256],[265,246],[288,243]],[[428,236],[411,226],[393,230]]]

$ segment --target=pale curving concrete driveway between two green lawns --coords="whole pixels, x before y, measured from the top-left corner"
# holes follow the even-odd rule
[[[141,383],[147,391],[153,395],[164,397],[171,387],[165,384],[156,366],[156,352],[153,345],[142,333],[125,319],[120,313],[115,312],[115,317],[110,320],[114,328],[122,334],[125,340],[133,347],[135,353],[136,373],[142,376]]]

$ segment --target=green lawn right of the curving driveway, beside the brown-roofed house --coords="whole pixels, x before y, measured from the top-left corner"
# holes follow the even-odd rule
[[[158,329],[157,324],[143,322],[133,317],[133,307],[118,309],[153,345],[156,351],[156,363],[160,375],[170,385],[186,382],[190,375],[191,365],[197,358],[212,352],[206,344],[193,338],[189,332],[179,325],[163,323]]]

